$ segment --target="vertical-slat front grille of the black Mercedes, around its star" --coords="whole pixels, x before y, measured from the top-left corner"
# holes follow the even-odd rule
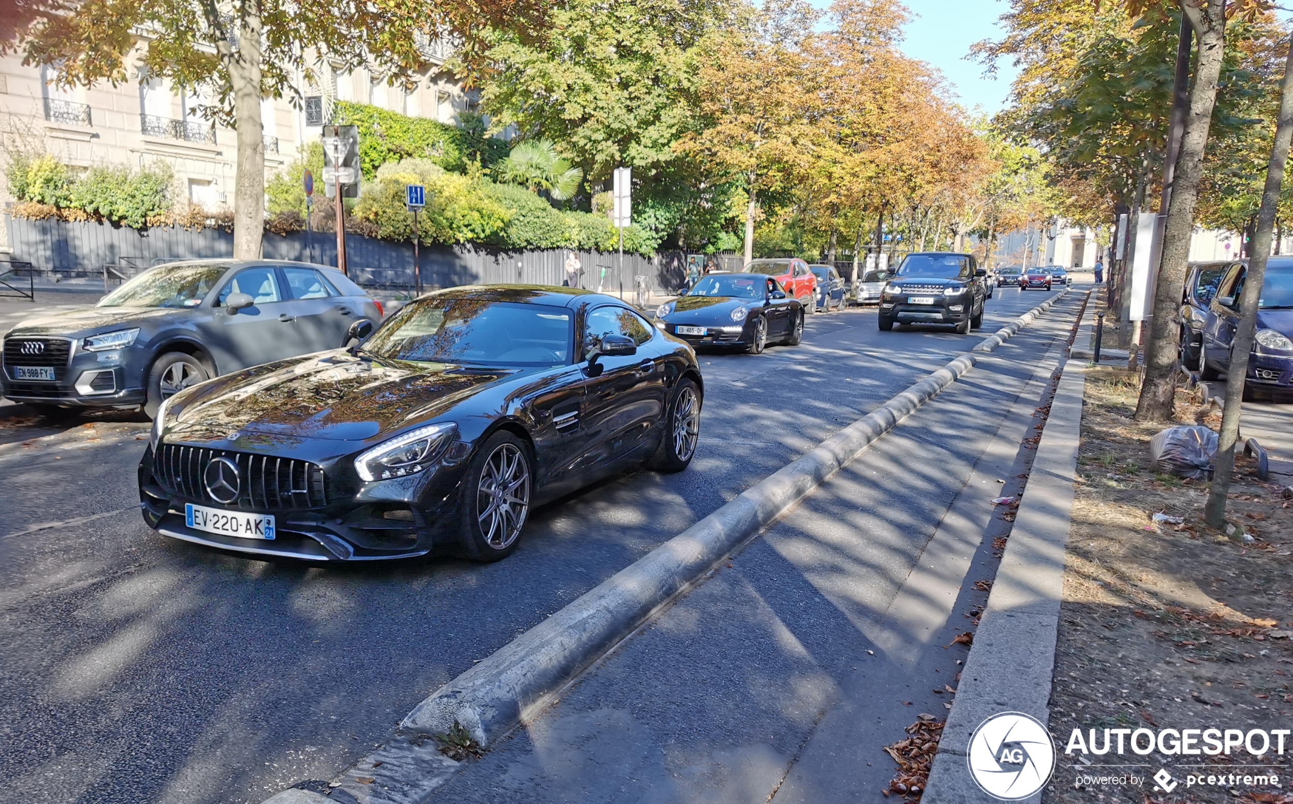
[[[233,503],[222,503],[207,491],[203,473],[213,458],[228,458],[238,467],[238,499]],[[240,511],[303,511],[327,505],[323,469],[291,458],[163,443],[153,459],[153,474],[171,494],[211,505]]]

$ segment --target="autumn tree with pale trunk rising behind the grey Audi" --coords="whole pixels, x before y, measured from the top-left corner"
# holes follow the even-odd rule
[[[53,65],[57,81],[89,85],[166,78],[204,90],[207,112],[237,132],[234,257],[261,253],[265,153],[261,98],[297,98],[297,71],[313,78],[315,58],[385,71],[407,80],[423,63],[419,43],[459,36],[465,59],[478,56],[482,22],[533,18],[526,0],[5,0],[0,48],[21,48],[25,63]]]

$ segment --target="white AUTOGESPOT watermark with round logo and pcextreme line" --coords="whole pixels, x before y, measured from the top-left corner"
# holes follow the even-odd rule
[[[1152,786],[1155,792],[1178,787],[1221,787],[1237,795],[1239,788],[1281,788],[1280,761],[1293,729],[1073,729],[1064,755],[1072,765],[1077,788]],[[1151,754],[1181,756],[1187,761],[1159,768],[1135,761]],[[1230,767],[1214,761],[1191,764],[1188,757],[1227,757]],[[1002,712],[984,720],[970,737],[966,761],[970,776],[994,799],[1016,801],[1045,787],[1056,764],[1050,730],[1023,712]],[[1259,761],[1245,761],[1245,760]],[[1126,761],[1131,760],[1131,761]]]

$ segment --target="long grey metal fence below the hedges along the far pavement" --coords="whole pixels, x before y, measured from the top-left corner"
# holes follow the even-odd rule
[[[13,259],[25,260],[45,275],[106,277],[118,282],[140,270],[171,260],[229,257],[233,235],[217,229],[156,226],[146,230],[97,222],[58,220],[32,221],[6,216]],[[424,246],[420,249],[424,288],[481,283],[561,284],[568,249],[504,251],[481,246]],[[645,277],[649,291],[667,292],[685,278],[685,256],[659,252],[652,256],[577,251],[583,273],[579,287],[627,296],[636,278]],[[304,260],[336,265],[332,233],[265,233],[264,256],[270,260]],[[365,287],[411,290],[414,286],[412,243],[347,235],[350,275]],[[105,270],[109,269],[109,270]],[[737,269],[740,270],[740,269]]]

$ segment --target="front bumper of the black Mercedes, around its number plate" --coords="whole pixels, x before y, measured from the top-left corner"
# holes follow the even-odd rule
[[[140,461],[140,509],[158,533],[219,549],[304,561],[389,561],[425,556],[458,538],[458,483],[465,461],[420,476],[354,485],[330,481],[327,502],[314,508],[221,505],[176,492],[154,473],[149,447]],[[427,504],[434,499],[437,503]],[[185,505],[274,514],[275,538],[244,539],[189,527]],[[390,518],[396,514],[400,518]]]

